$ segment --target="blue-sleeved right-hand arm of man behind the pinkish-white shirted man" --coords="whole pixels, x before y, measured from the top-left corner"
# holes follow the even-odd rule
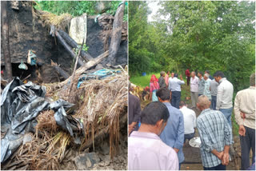
[[[178,132],[177,132],[177,139],[174,142],[174,150],[176,151],[176,153],[178,153],[178,151],[180,149],[182,149],[183,147],[183,143],[184,143],[184,118],[183,118],[183,114],[181,111],[179,112],[179,122],[178,122]]]

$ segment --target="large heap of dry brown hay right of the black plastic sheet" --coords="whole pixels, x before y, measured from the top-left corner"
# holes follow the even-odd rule
[[[127,72],[122,70],[122,74],[114,74],[103,80],[85,81],[79,89],[78,78],[79,75],[75,75],[73,84],[46,84],[46,94],[78,106],[74,117],[82,119],[86,130],[81,150],[87,141],[94,140],[95,134],[108,128],[106,133],[110,134],[110,154],[113,157],[118,147],[119,118],[127,113]]]

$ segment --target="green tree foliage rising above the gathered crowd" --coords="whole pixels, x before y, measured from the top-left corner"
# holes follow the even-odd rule
[[[146,21],[148,7],[141,3],[129,4],[131,75],[222,70],[235,93],[249,86],[255,71],[255,2],[162,1],[155,22]]]

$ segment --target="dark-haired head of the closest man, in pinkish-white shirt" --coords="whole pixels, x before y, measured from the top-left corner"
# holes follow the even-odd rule
[[[153,101],[146,105],[141,114],[140,129],[148,129],[151,133],[160,135],[166,126],[166,122],[170,116],[166,105],[160,101]],[[146,127],[146,128],[145,128]],[[138,129],[138,131],[140,130]]]

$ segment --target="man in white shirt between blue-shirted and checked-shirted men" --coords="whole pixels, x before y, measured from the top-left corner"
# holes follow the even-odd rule
[[[197,117],[194,110],[186,107],[185,101],[179,103],[179,110],[181,110],[184,118],[184,144],[186,139],[190,141],[194,137],[194,128],[196,127]]]

